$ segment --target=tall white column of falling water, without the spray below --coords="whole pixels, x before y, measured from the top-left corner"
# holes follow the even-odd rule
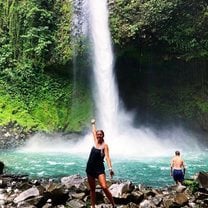
[[[119,98],[113,73],[113,52],[106,0],[89,0],[94,80],[92,89],[98,126],[106,136],[117,130]]]

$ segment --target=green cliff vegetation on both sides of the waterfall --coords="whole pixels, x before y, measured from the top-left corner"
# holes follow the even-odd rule
[[[128,95],[125,101],[167,118],[195,120],[208,130],[207,1],[109,2],[115,68],[120,94]],[[0,125],[81,131],[90,119],[88,43],[84,37],[82,45],[72,41],[72,3],[0,0]],[[76,89],[74,47],[80,70]]]

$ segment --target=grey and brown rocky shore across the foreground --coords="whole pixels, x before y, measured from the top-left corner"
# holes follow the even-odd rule
[[[130,181],[108,181],[117,208],[207,208],[208,174],[199,173],[188,185],[160,189],[135,185]],[[99,185],[98,208],[111,205]],[[90,207],[86,178],[66,176],[59,181],[29,179],[26,175],[0,175],[1,208],[87,208]]]

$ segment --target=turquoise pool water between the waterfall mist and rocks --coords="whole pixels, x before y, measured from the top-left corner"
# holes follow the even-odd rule
[[[186,178],[199,171],[208,171],[208,150],[183,154],[186,161]],[[57,152],[1,151],[0,160],[6,165],[5,172],[28,174],[31,178],[54,178],[80,174],[85,176],[88,154]],[[115,179],[130,180],[136,184],[164,187],[173,184],[170,177],[170,157],[145,158],[112,157]]]

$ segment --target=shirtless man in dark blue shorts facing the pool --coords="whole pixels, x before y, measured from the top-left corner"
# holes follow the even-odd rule
[[[170,175],[173,177],[176,184],[181,185],[185,175],[185,164],[179,151],[175,152],[175,156],[171,160]]]

